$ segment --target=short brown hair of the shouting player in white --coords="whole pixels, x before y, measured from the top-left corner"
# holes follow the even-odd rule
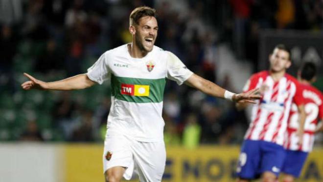
[[[129,17],[130,26],[139,24],[139,19],[144,16],[152,16],[156,18],[156,9],[148,6],[140,6],[134,9]]]

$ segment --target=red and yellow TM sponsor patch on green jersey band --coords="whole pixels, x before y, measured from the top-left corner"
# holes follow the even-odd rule
[[[121,94],[130,96],[149,96],[149,85],[121,83]]]

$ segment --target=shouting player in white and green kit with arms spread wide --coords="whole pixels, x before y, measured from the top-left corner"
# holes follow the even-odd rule
[[[23,89],[73,90],[112,83],[112,105],[104,142],[103,166],[107,182],[129,180],[136,171],[140,182],[161,182],[165,167],[161,118],[165,78],[186,83],[214,97],[255,103],[257,89],[233,94],[193,74],[173,53],[154,46],[158,24],[155,9],[138,7],[130,15],[132,43],[104,52],[86,74],[44,82],[24,74]]]

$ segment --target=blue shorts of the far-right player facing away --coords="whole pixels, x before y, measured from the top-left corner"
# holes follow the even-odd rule
[[[300,177],[301,169],[308,156],[307,152],[286,150],[286,157],[281,172]]]

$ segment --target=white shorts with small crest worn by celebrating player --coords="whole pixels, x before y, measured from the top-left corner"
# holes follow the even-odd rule
[[[130,180],[133,172],[140,182],[161,182],[165,169],[166,151],[163,141],[140,142],[126,135],[109,132],[104,141],[103,172],[125,167],[123,177]]]

